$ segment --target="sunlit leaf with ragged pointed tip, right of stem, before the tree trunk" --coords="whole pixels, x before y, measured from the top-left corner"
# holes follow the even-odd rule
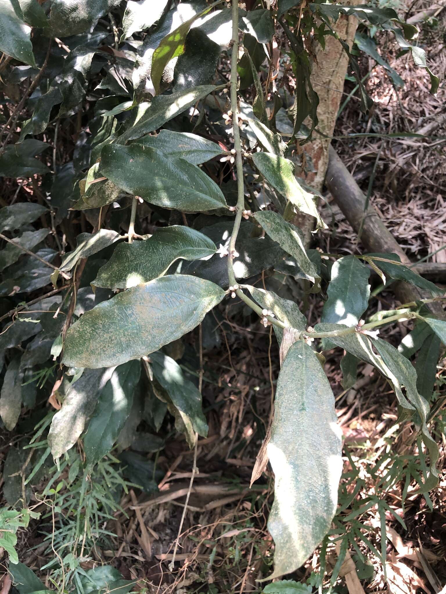
[[[253,154],[253,162],[268,184],[282,194],[297,210],[315,217],[316,224],[326,229],[314,202],[315,196],[304,190],[294,177],[294,163],[270,153]]]

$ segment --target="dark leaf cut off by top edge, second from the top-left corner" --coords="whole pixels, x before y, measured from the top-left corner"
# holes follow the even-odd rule
[[[120,3],[120,0],[53,0],[49,14],[51,33],[56,37],[76,35]]]

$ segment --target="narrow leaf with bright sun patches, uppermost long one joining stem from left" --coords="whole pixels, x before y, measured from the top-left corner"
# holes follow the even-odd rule
[[[212,84],[205,84],[195,89],[186,89],[168,96],[153,97],[150,103],[140,103],[132,110],[134,113],[129,127],[118,138],[120,144],[127,140],[140,138],[148,132],[161,128],[169,119],[195,105],[197,101],[215,91]]]

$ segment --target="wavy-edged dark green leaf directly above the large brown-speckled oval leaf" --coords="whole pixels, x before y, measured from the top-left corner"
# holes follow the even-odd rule
[[[215,244],[195,229],[173,225],[157,229],[145,241],[117,245],[92,285],[128,289],[163,276],[175,260],[199,260],[215,254]]]

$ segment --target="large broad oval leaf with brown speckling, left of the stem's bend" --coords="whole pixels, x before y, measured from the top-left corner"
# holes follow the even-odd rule
[[[186,275],[164,276],[128,289],[71,326],[63,362],[98,368],[149,355],[193,330],[224,295],[214,283]]]

